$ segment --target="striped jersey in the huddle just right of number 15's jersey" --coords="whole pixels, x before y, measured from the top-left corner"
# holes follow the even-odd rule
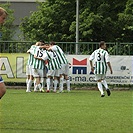
[[[43,60],[48,60],[46,67],[48,70],[57,70],[61,68],[61,64],[59,62],[59,59],[57,58],[56,53],[51,52],[51,51],[44,51],[43,55],[41,57]]]

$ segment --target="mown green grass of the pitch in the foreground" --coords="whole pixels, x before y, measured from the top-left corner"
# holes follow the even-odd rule
[[[0,101],[0,133],[132,133],[132,91],[26,93],[8,89]]]

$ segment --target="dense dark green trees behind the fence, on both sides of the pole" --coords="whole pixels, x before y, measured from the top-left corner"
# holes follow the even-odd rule
[[[79,9],[80,41],[132,41],[132,0],[80,0]],[[20,28],[26,40],[74,42],[75,14],[76,1],[46,0],[23,19]]]

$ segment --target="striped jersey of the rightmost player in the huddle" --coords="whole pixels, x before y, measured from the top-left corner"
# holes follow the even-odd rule
[[[51,46],[50,48],[53,52],[56,53],[60,64],[68,64],[68,60],[67,60],[64,52],[62,51],[62,49],[58,45]]]

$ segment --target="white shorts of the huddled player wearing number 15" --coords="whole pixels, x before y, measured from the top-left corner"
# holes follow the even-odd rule
[[[45,70],[44,69],[36,69],[36,68],[32,68],[33,71],[33,77],[37,78],[44,78],[46,76]]]

